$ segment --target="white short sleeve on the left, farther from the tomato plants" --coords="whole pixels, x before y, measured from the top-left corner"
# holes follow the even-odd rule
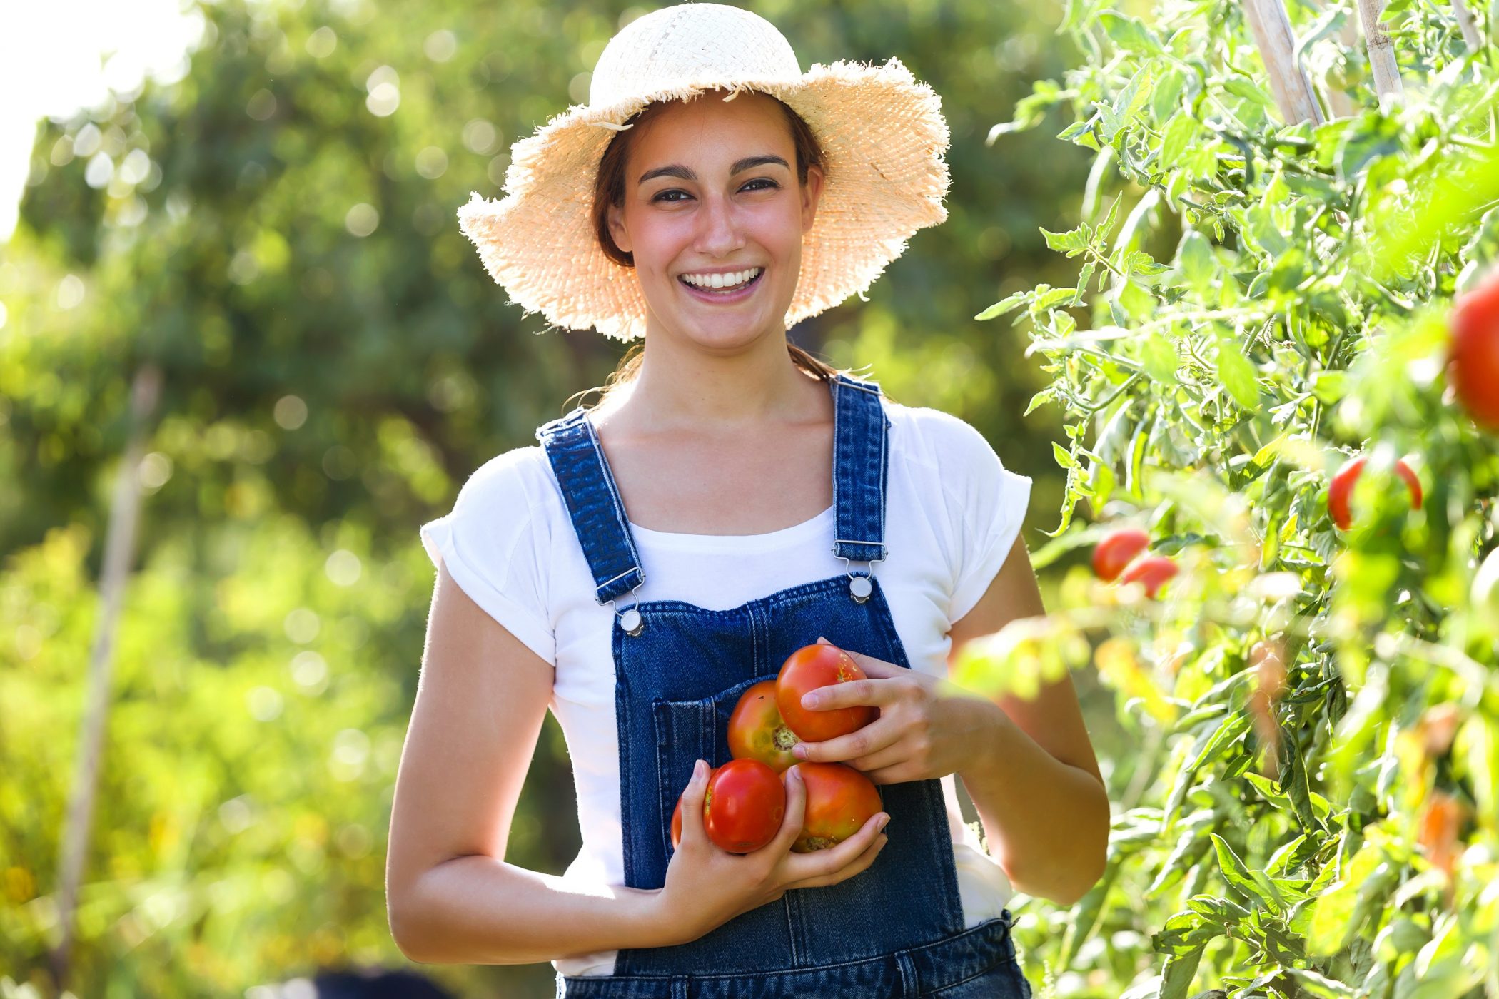
[[[433,566],[528,649],[556,664],[556,632],[547,610],[549,530],[532,502],[540,448],[492,458],[459,490],[453,511],[421,526]],[[544,460],[544,455],[543,458]]]

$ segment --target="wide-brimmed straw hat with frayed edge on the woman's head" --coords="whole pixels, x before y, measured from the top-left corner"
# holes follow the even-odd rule
[[[598,162],[624,123],[655,100],[705,90],[778,97],[806,121],[826,156],[817,219],[802,240],[790,327],[860,294],[905,240],[947,217],[947,123],[941,99],[898,58],[836,61],[806,73],[764,18],[720,3],[682,3],[631,21],[594,67],[588,103],[511,145],[505,196],[474,192],[459,226],[510,301],[555,327],[645,335],[646,301],[631,268],[598,246]]]

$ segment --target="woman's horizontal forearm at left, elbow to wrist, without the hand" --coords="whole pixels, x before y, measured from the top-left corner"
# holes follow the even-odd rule
[[[426,965],[529,965],[574,954],[678,944],[660,891],[600,887],[493,857],[430,869],[390,906],[402,953]]]

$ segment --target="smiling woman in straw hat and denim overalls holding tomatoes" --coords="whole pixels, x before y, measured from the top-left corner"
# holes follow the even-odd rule
[[[681,4],[624,28],[589,105],[460,213],[514,301],[645,350],[423,527],[438,586],[387,885],[412,959],[552,960],[583,998],[1030,995],[1004,906],[1087,891],[1108,800],[1070,680],[998,704],[940,683],[956,644],[1042,613],[1030,482],[785,338],[944,217],[946,144],[899,63],[802,75],[761,18]],[[794,854],[790,780],[776,839],[723,852],[702,825],[723,722],[818,640],[871,678],[809,707],[880,716],[797,753],[863,770],[884,810]],[[549,707],[583,833],[562,878],[504,863]]]

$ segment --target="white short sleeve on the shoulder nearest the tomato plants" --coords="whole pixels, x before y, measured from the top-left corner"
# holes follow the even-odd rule
[[[977,605],[1009,557],[1030,505],[1031,481],[1006,469],[970,424],[956,416],[943,422],[941,482],[958,542],[947,620],[958,622]]]

